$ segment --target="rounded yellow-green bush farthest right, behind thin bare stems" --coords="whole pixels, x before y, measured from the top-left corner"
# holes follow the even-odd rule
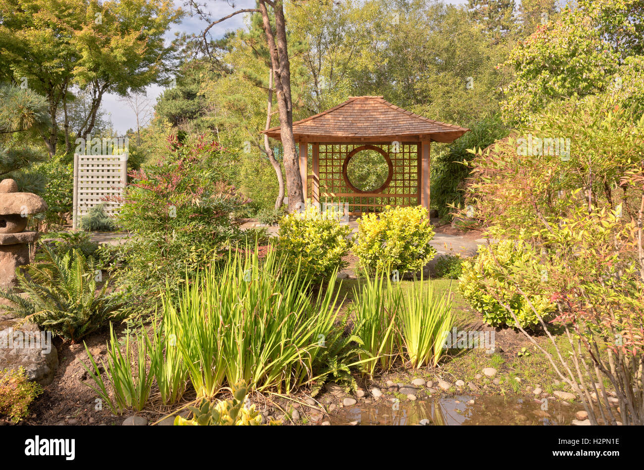
[[[495,245],[482,245],[478,248],[477,257],[463,261],[459,289],[489,325],[516,325],[512,315],[500,305],[500,300],[509,305],[522,328],[531,327],[538,323],[538,318],[524,296],[513,289],[514,283],[504,272],[509,275],[520,273],[524,285],[533,286],[526,294],[540,316],[546,318],[554,311],[554,304],[548,296],[536,293],[542,276],[538,264],[535,264],[537,259],[538,253],[527,244],[502,240]]]

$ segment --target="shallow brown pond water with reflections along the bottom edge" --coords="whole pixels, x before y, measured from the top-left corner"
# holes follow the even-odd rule
[[[378,424],[547,426],[571,424],[575,411],[578,411],[577,408],[554,401],[537,402],[535,397],[456,395],[425,401],[392,403],[381,400],[376,404],[349,406],[331,415],[330,422],[336,425],[360,424],[361,426]]]

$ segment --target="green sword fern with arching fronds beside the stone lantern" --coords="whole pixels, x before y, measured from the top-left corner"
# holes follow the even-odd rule
[[[2,309],[73,342],[119,316],[120,295],[106,293],[108,282],[98,290],[102,273],[92,258],[77,250],[59,256],[46,247],[43,255],[42,262],[17,273],[18,287],[26,297],[15,289],[0,291],[0,298],[15,304]]]

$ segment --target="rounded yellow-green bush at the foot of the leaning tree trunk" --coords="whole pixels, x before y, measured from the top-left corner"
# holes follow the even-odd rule
[[[340,224],[334,210],[321,212],[309,206],[279,221],[276,248],[289,269],[299,264],[305,276],[318,282],[347,265],[343,257],[351,248],[350,233],[351,228]]]

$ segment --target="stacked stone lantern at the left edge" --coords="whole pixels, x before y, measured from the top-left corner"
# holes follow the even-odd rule
[[[15,286],[15,268],[29,264],[29,244],[37,231],[24,231],[28,215],[47,210],[39,195],[19,193],[13,179],[0,182],[0,288]]]

